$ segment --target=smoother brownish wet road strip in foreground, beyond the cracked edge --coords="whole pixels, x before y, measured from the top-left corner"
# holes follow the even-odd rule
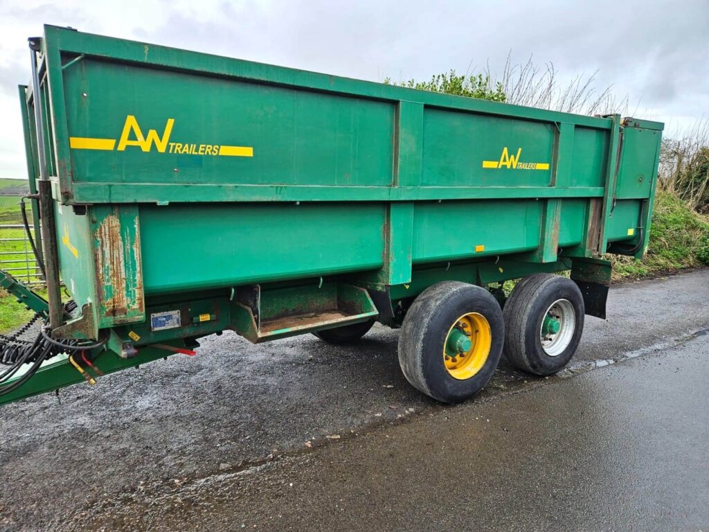
[[[140,494],[79,523],[156,532],[706,530],[707,340]]]

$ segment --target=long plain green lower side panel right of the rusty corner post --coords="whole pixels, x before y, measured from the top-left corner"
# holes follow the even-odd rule
[[[375,270],[384,204],[141,206],[146,294]],[[185,275],[189,272],[189,275]]]

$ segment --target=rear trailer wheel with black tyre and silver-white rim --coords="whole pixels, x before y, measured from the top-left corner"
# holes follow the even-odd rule
[[[525,277],[505,309],[505,356],[520,370],[553,375],[576,353],[584,331],[584,298],[560,275]]]

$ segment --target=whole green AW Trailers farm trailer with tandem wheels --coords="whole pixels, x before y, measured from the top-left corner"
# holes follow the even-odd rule
[[[564,367],[584,316],[605,318],[603,256],[647,251],[661,123],[70,28],[29,45],[48,297],[0,275],[43,323],[33,342],[0,339],[0,402],[193,354],[225,329],[340,343],[375,321],[401,328],[414,387],[462,401],[503,353],[535,375]]]

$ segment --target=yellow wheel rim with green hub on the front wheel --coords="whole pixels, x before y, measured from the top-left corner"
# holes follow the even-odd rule
[[[492,345],[490,323],[485,316],[469,312],[460,316],[443,343],[443,364],[451,377],[465,380],[474,377],[485,365]]]

